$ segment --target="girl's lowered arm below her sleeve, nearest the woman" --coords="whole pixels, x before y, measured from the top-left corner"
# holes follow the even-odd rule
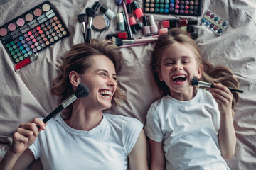
[[[163,142],[156,142],[150,140],[150,149],[151,149],[151,170],[164,170],[165,169],[165,157],[163,150]]]

